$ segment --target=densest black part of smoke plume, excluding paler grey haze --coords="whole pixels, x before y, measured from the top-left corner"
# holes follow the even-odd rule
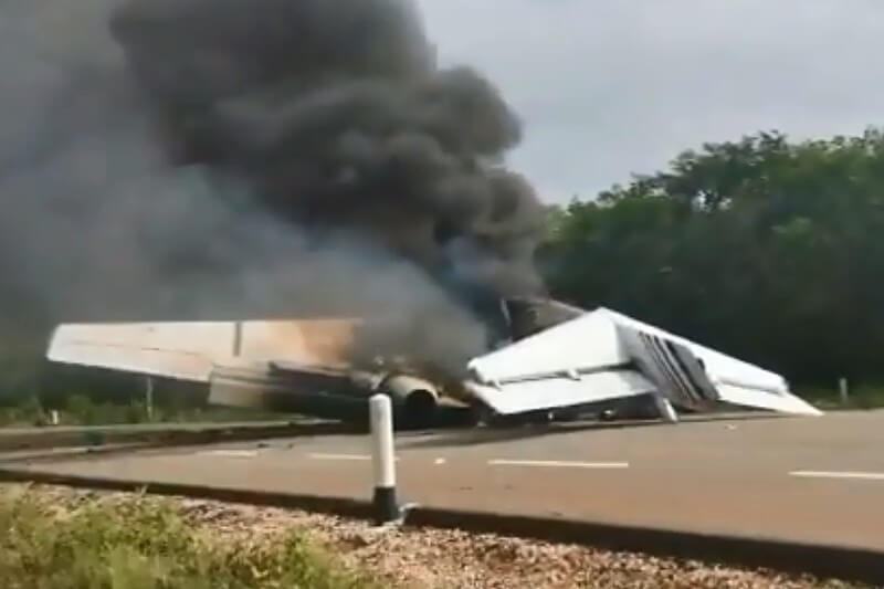
[[[134,0],[112,30],[178,161],[436,276],[537,286],[539,208],[497,166],[518,122],[478,74],[435,66],[410,3]]]

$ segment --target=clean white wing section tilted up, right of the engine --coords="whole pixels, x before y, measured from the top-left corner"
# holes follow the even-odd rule
[[[779,375],[606,308],[474,358],[469,368],[469,390],[502,414],[650,392],[698,411],[728,402],[821,414]]]

